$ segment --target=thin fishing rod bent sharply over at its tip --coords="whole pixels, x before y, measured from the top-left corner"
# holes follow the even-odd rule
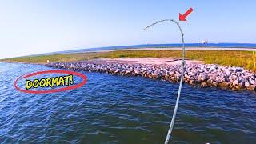
[[[170,127],[169,127],[169,130],[168,130],[168,133],[166,135],[166,141],[165,141],[165,144],[167,144],[170,140],[170,134],[174,128],[174,121],[175,121],[175,117],[176,117],[176,114],[177,114],[177,110],[178,110],[178,102],[179,102],[179,98],[180,98],[180,95],[181,95],[181,92],[182,92],[182,83],[183,83],[183,76],[184,76],[184,71],[185,71],[185,44],[184,44],[184,33],[182,31],[182,28],[181,26],[179,25],[178,22],[176,22],[175,20],[173,19],[163,19],[161,21],[158,21],[158,22],[154,22],[152,23],[150,26],[146,26],[145,29],[143,30],[146,30],[148,28],[150,28],[151,26],[154,26],[160,22],[166,22],[166,21],[169,21],[169,22],[174,22],[177,26],[178,26],[178,29],[180,30],[181,34],[182,34],[182,75],[181,75],[181,80],[179,82],[179,87],[178,87],[178,96],[177,96],[177,99],[176,99],[176,104],[175,104],[175,108],[174,108],[174,114],[173,114],[173,118],[171,119],[171,122],[170,122]]]

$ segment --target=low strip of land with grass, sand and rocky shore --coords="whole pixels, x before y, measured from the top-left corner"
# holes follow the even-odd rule
[[[184,82],[193,86],[255,90],[256,56],[253,50],[190,48],[186,50]],[[7,58],[2,62],[39,63],[54,68],[178,82],[181,75],[181,54],[181,50],[172,48],[142,48],[27,56]]]

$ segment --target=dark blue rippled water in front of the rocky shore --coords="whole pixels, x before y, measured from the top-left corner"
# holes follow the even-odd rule
[[[51,68],[0,63],[0,142],[163,143],[178,83],[84,73],[85,86],[54,94],[14,89]],[[256,94],[184,85],[173,142],[256,142]]]

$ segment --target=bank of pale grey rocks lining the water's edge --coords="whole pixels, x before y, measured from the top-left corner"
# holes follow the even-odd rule
[[[100,60],[82,62],[50,62],[46,66],[68,70],[82,70],[107,74],[142,76],[178,82],[181,65],[150,65],[105,62]],[[218,66],[216,64],[188,64],[184,82],[193,86],[221,87],[230,90],[256,90],[256,74],[242,67]]]

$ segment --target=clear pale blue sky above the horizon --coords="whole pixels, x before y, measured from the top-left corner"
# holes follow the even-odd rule
[[[140,0],[2,0],[0,58],[60,50],[145,43],[180,43],[178,29],[164,18],[182,22],[186,42],[256,43],[256,2]]]

